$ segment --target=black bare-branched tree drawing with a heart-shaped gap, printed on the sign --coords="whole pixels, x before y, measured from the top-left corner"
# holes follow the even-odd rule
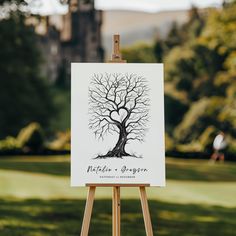
[[[95,137],[118,134],[107,154],[96,158],[131,156],[125,150],[131,140],[144,141],[149,98],[147,80],[136,74],[94,74],[89,88],[89,128]]]

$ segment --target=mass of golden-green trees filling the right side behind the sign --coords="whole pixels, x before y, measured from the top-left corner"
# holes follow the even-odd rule
[[[180,152],[209,150],[219,130],[236,150],[236,1],[225,2],[222,9],[193,7],[186,23],[174,23],[149,45],[156,61],[165,63],[166,140]],[[123,55],[138,62],[142,50],[126,48]]]

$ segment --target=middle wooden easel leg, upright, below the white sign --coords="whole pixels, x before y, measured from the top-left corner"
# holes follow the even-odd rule
[[[120,236],[120,187],[113,187],[112,235]]]

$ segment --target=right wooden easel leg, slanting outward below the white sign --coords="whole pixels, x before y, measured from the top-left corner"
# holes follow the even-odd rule
[[[147,194],[146,194],[145,187],[142,187],[142,186],[139,187],[139,191],[140,191],[140,199],[141,199],[141,204],[142,204],[146,235],[153,236],[152,223],[151,223],[151,217],[150,217],[150,212],[148,208],[148,201],[147,201]]]

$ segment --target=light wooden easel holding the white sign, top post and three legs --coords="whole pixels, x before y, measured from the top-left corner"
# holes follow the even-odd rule
[[[125,63],[120,53],[120,36],[113,36],[113,53],[109,62]],[[87,236],[89,232],[90,219],[92,215],[93,202],[96,187],[113,187],[112,196],[112,235],[120,236],[120,188],[121,187],[139,187],[140,200],[143,211],[144,225],[147,236],[153,236],[151,217],[148,208],[147,194],[145,187],[149,184],[87,184],[89,187],[87,201],[85,205],[84,218],[80,236]]]

